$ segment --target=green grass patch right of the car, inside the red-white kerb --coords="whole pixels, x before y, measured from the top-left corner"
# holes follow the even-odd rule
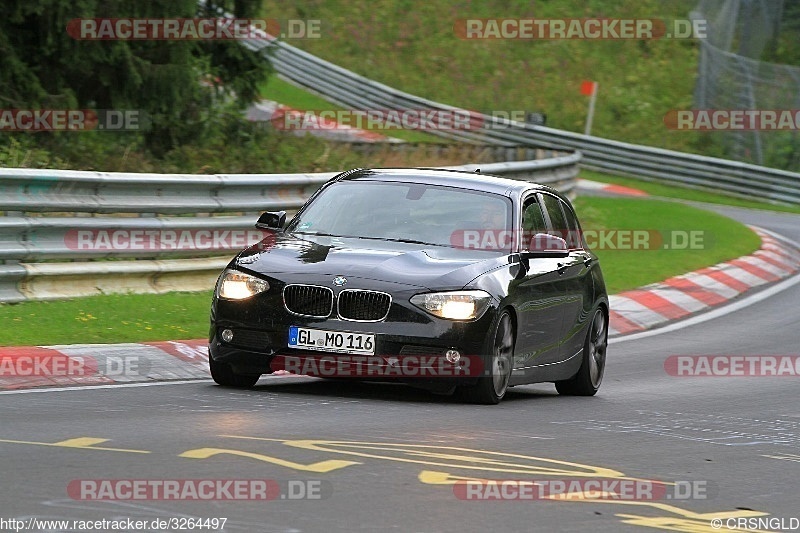
[[[704,232],[704,246],[699,250],[595,250],[610,294],[734,259],[755,251],[760,245],[758,236],[745,225],[680,203],[581,197],[575,201],[575,209],[584,230]]]

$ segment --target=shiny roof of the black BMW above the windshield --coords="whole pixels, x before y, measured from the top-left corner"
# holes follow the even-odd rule
[[[359,181],[398,181],[405,183],[427,183],[458,187],[462,189],[477,190],[504,196],[517,196],[530,189],[548,191],[563,197],[555,189],[530,181],[501,178],[491,174],[480,174],[464,170],[451,170],[441,168],[373,168],[353,169],[335,178],[341,180]],[[516,193],[516,194],[515,194]]]

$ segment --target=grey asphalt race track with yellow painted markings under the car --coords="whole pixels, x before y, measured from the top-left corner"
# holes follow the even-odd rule
[[[719,210],[800,241],[800,216]],[[798,376],[665,370],[675,355],[800,354],[795,281],[711,320],[613,342],[594,398],[545,384],[472,406],[294,377],[251,391],[200,381],[2,394],[0,518],[226,518],[225,531],[287,533],[797,530]],[[272,499],[92,499],[103,493],[91,480],[131,479],[269,480]],[[587,491],[627,482],[645,496],[539,491],[575,480]],[[498,494],[513,501],[487,499]]]

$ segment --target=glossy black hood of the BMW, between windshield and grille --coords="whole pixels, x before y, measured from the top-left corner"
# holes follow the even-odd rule
[[[267,237],[232,262],[266,276],[286,274],[291,282],[345,276],[430,290],[461,288],[504,264],[508,256],[496,251],[287,233]]]

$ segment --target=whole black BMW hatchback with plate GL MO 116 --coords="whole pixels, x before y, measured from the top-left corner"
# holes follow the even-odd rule
[[[209,363],[262,374],[392,380],[498,403],[555,382],[594,395],[608,297],[569,200],[542,185],[434,169],[352,170],[217,281]]]

